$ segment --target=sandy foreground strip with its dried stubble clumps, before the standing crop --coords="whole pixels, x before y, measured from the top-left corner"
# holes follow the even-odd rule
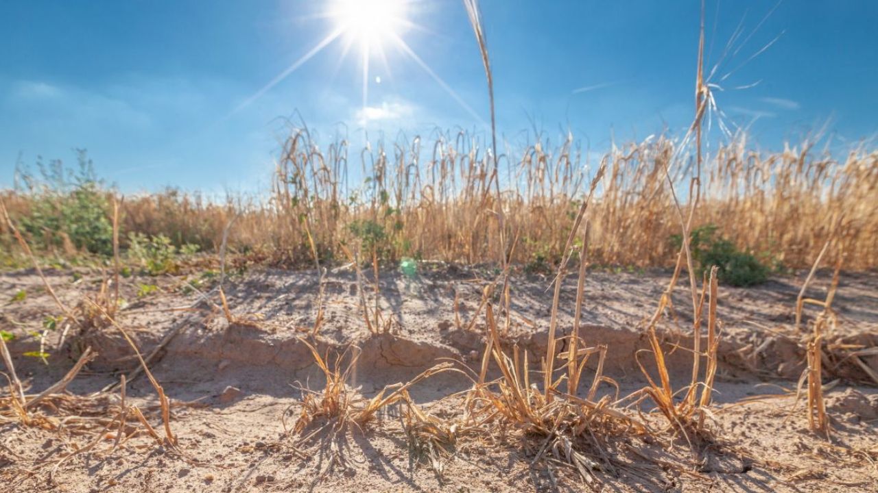
[[[878,485],[878,392],[867,370],[878,368],[874,274],[838,282],[822,349],[828,423],[814,432],[807,389],[796,392],[807,366],[805,327],[822,312],[806,308],[795,329],[807,272],[719,291],[719,342],[713,353],[705,351],[716,361],[713,391],[709,404],[699,401],[700,411],[688,416],[693,338],[686,327],[693,313],[681,308],[659,319],[655,332],[675,392],[672,409],[679,411],[670,415],[680,420],[673,422],[658,404],[663,383],[644,331],[644,315],[666,289],[668,270],[588,273],[578,348],[599,349],[587,361],[576,358],[575,389],[568,387],[566,363],[556,362],[547,402],[539,361],[545,364],[549,345],[551,276],[511,275],[506,325],[504,309],[491,308],[484,293],[492,268],[434,262],[412,277],[388,270],[379,275],[376,304],[371,272],[358,280],[356,269],[343,267],[322,282],[313,272],[272,268],[232,275],[224,282],[228,316],[218,281],[191,289],[198,275],[133,276],[119,285],[120,297],[136,301],[115,314],[118,327],[73,325],[63,343],[55,331],[42,347],[26,334],[39,331],[57,305],[32,269],[3,275],[4,293],[29,293],[5,304],[2,320],[17,336],[8,347],[25,403],[61,381],[86,347],[97,352],[66,389],[51,390],[25,411],[15,397],[4,397],[4,490],[868,491]],[[97,299],[103,284],[94,271],[78,272],[45,273],[65,306]],[[818,272],[810,296],[825,297],[831,276]],[[144,282],[157,290],[138,297]],[[372,332],[363,320],[361,287],[368,313],[378,307]],[[568,276],[556,315],[559,360],[570,352],[577,292],[576,276]],[[675,289],[674,304],[685,307],[688,296],[688,289]],[[319,306],[322,322],[313,334]],[[156,388],[136,371],[140,363],[122,328],[168,399],[167,429]],[[702,347],[709,344],[705,330]],[[605,354],[598,345],[606,345]],[[863,351],[868,347],[873,350]],[[493,351],[487,360],[486,350]],[[49,365],[23,356],[31,351],[51,354]],[[318,356],[328,378],[315,364]],[[493,358],[507,360],[501,367]],[[702,368],[710,359],[701,358]],[[343,375],[334,373],[336,365]],[[518,373],[507,375],[512,368]],[[124,392],[120,375],[128,375]],[[595,375],[602,381],[593,388]]]

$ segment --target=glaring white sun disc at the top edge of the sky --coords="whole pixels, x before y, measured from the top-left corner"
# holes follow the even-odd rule
[[[406,0],[335,0],[330,15],[349,41],[366,50],[407,26]]]

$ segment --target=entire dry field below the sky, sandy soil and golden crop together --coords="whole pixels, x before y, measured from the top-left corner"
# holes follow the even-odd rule
[[[499,146],[464,4],[486,137],[0,191],[0,491],[878,490],[878,152],[708,139],[703,11],[685,135]]]

